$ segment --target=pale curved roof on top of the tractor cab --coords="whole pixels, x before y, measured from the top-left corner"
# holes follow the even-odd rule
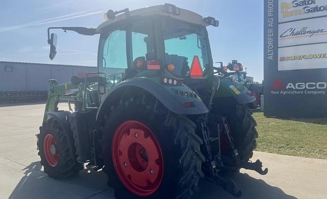
[[[180,14],[178,15],[176,13],[175,14],[169,13],[167,12],[167,5],[170,6],[170,4],[157,5],[157,6],[151,6],[146,8],[140,8],[132,11],[128,11],[126,9],[127,13],[126,12],[121,13],[119,15],[116,15],[114,19],[108,19],[105,22],[101,23],[100,26],[98,26],[97,28],[97,32],[100,33],[101,29],[108,26],[109,24],[113,24],[133,16],[153,16],[153,15],[170,16],[172,18],[179,19],[182,21],[199,24],[201,26],[208,26],[208,24],[204,21],[204,18],[201,15],[185,9],[180,9]]]

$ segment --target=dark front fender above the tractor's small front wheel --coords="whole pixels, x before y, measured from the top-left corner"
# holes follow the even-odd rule
[[[74,140],[72,140],[73,138],[73,132],[71,130],[71,125],[69,124],[69,114],[71,114],[70,111],[48,111],[45,112],[44,115],[49,115],[52,118],[55,118],[60,127],[64,130],[64,132],[67,134],[67,141],[68,143],[74,143]],[[71,155],[74,157],[74,151],[75,148],[74,144],[69,144],[69,151],[71,152]]]

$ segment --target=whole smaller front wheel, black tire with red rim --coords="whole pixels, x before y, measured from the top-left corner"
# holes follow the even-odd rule
[[[73,136],[65,132],[54,118],[40,127],[37,145],[41,165],[49,177],[63,179],[75,176],[83,169],[82,164],[76,160]]]

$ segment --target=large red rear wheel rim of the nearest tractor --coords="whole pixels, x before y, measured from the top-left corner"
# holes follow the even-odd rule
[[[116,129],[112,161],[123,185],[136,195],[152,195],[162,182],[164,160],[159,143],[141,122],[125,121]]]

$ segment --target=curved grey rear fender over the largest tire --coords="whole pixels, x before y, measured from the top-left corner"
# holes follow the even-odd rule
[[[176,114],[196,115],[208,112],[207,107],[200,98],[191,98],[180,94],[180,91],[192,91],[185,85],[159,85],[158,83],[151,81],[148,78],[131,78],[114,86],[104,97],[97,113],[97,121],[99,117],[103,116],[107,110],[110,110],[111,106],[119,102],[120,97],[128,88],[142,89],[152,94],[158,99],[160,103],[162,103],[162,105]],[[172,90],[178,90],[179,92],[174,93]],[[189,102],[193,102],[194,106],[183,107],[183,103]]]

